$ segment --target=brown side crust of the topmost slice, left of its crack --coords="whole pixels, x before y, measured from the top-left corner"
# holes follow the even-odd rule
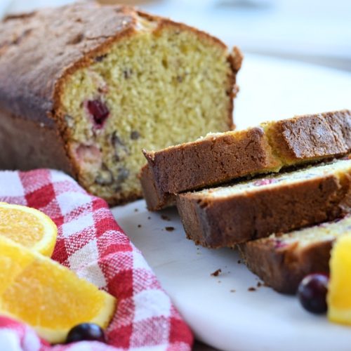
[[[251,128],[144,154],[160,192],[176,194],[277,166],[269,151],[263,129]]]

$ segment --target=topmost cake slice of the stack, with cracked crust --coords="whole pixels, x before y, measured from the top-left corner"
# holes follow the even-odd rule
[[[351,151],[351,111],[271,121],[244,131],[211,133],[192,143],[144,150],[147,208],[173,204],[174,194]]]

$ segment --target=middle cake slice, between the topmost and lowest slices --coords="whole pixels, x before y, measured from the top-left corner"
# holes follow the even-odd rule
[[[177,196],[189,239],[218,248],[322,223],[351,210],[351,160]]]

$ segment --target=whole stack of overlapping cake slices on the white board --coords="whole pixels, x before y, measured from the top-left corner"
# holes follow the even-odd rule
[[[150,211],[176,204],[189,239],[295,293],[351,232],[350,152],[351,111],[303,115],[144,150],[140,180]]]

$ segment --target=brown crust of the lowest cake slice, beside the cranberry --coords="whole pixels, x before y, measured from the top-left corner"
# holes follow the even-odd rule
[[[298,243],[280,247],[274,239],[260,239],[238,248],[246,265],[265,284],[280,293],[294,294],[307,274],[329,273],[332,244],[332,239],[321,240],[300,249]]]

